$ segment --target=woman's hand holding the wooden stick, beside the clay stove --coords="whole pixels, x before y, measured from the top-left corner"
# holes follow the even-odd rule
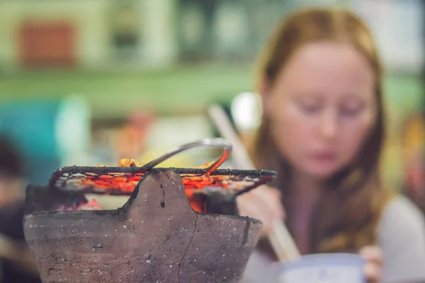
[[[239,214],[263,222],[261,236],[266,236],[273,227],[273,222],[283,221],[285,210],[280,202],[280,191],[263,185],[237,197]]]

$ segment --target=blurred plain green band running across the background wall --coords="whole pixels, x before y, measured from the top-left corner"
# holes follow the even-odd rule
[[[212,100],[252,90],[252,74],[246,65],[131,72],[19,72],[0,75],[0,103],[79,94],[87,98],[95,118],[125,117],[129,111],[144,108],[162,114],[191,114],[203,111]],[[387,76],[385,98],[387,109],[400,115],[419,108],[423,101],[419,76]]]

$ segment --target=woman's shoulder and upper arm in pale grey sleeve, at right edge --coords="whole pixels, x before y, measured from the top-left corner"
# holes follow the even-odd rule
[[[425,219],[407,197],[385,207],[378,229],[382,248],[383,282],[425,281]]]

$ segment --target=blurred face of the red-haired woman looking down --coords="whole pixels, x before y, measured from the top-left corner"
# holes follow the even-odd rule
[[[375,76],[343,43],[301,47],[271,86],[264,110],[278,149],[295,171],[329,178],[350,163],[375,122]]]

